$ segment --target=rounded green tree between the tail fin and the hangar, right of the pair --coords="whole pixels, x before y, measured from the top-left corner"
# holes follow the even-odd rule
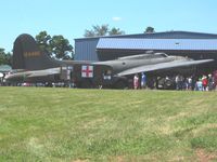
[[[69,41],[63,36],[53,36],[50,40],[50,46],[55,58],[71,59],[73,52],[73,46],[69,44]]]

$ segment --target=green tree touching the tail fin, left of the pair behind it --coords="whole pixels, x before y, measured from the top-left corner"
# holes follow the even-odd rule
[[[36,42],[42,53],[52,56],[52,49],[50,46],[51,36],[47,31],[41,31],[36,36]]]

